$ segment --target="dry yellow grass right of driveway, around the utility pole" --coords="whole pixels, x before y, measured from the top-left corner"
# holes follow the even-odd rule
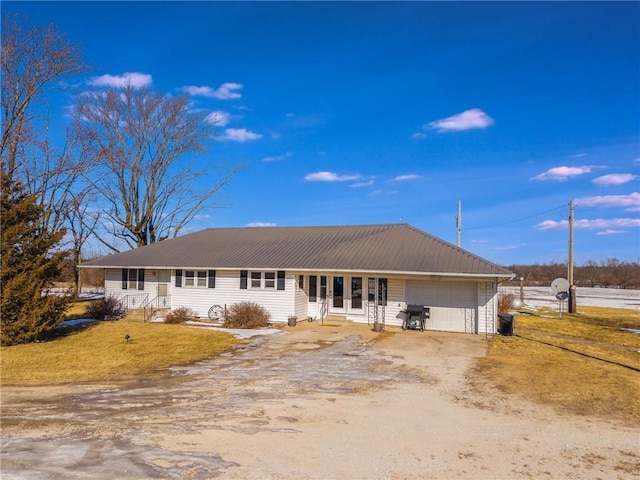
[[[640,424],[640,335],[621,328],[640,328],[639,313],[581,307],[562,319],[516,315],[514,336],[494,337],[474,374],[562,411]]]

